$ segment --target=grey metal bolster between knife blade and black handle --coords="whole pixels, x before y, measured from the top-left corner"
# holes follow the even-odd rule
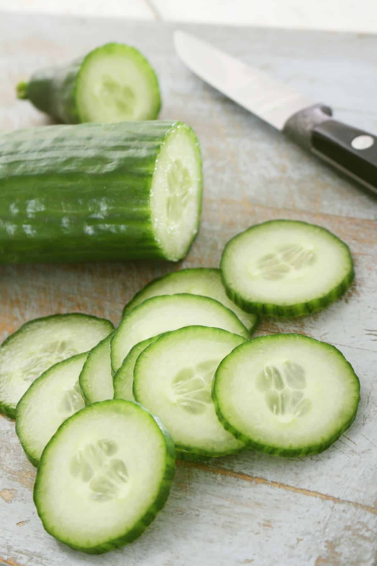
[[[283,127],[283,132],[291,138],[294,143],[301,145],[304,149],[311,149],[311,132],[315,126],[329,120],[332,110],[324,104],[314,104],[288,118]]]

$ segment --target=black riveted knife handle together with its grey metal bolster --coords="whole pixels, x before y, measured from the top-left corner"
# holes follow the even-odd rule
[[[377,136],[333,120],[323,104],[293,114],[283,131],[301,147],[377,193]]]

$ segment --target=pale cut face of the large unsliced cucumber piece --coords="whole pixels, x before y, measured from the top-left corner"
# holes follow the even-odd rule
[[[198,233],[201,207],[199,143],[189,126],[177,122],[162,144],[150,190],[152,226],[167,259],[187,255]]]

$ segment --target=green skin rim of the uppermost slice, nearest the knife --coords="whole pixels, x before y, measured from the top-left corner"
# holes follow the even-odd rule
[[[268,224],[269,222],[276,222],[276,220],[263,222],[263,224]],[[280,220],[280,222],[292,222],[292,221],[282,219]],[[294,222],[297,222],[297,224],[308,224],[307,222],[301,222],[300,220],[295,220]],[[250,226],[250,228],[248,228],[247,231],[253,230],[254,228],[257,228],[257,226],[259,226],[259,224]],[[328,232],[332,236],[335,235],[332,234],[332,232],[330,232],[330,230],[327,230],[326,228],[322,228],[322,230]],[[306,303],[297,303],[297,305],[291,305],[291,306],[274,305],[273,303],[259,303],[259,302],[245,301],[245,299],[242,298],[239,293],[237,293],[236,291],[231,289],[231,287],[229,287],[223,269],[223,258],[225,251],[229,243],[231,243],[233,239],[237,238],[238,235],[240,234],[237,234],[234,238],[230,239],[229,242],[226,243],[226,246],[224,247],[223,254],[220,260],[220,271],[221,271],[222,282],[229,299],[231,299],[233,303],[235,303],[235,305],[242,308],[242,310],[245,312],[254,312],[255,314],[261,316],[279,316],[281,318],[292,318],[294,316],[311,315],[313,314],[313,312],[322,310],[322,308],[328,307],[328,305],[331,305],[331,303],[336,301],[336,299],[339,299],[341,295],[343,295],[345,291],[349,288],[350,284],[354,280],[355,273],[353,269],[351,252],[349,250],[349,247],[346,245],[346,243],[343,242],[348,250],[350,269],[347,275],[344,277],[344,279],[340,282],[340,284],[337,285],[335,288],[333,288],[330,291],[330,293],[323,295],[323,297],[318,297],[317,299],[313,299],[312,301],[308,301]]]

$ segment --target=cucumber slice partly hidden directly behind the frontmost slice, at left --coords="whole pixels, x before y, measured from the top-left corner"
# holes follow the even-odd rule
[[[16,433],[34,466],[60,424],[85,406],[79,375],[88,354],[56,363],[37,378],[16,408]]]

